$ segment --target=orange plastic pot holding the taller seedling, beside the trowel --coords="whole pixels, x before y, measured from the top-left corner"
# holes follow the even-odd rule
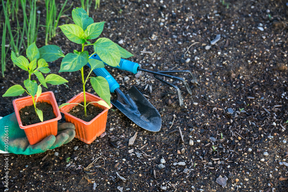
[[[86,103],[103,100],[100,97],[97,97],[96,95],[87,92],[85,93],[86,93]],[[67,103],[81,103],[81,102],[84,102],[83,92],[74,96]],[[75,125],[76,128],[75,138],[78,138],[79,140],[87,144],[92,143],[98,136],[100,136],[102,133],[105,132],[107,114],[108,114],[108,108],[99,105],[98,103],[91,103],[91,104],[102,108],[104,111],[102,111],[100,114],[98,114],[96,117],[94,117],[94,119],[92,119],[89,122],[83,121],[82,119],[74,117],[73,115],[70,115],[68,113],[76,104],[65,105],[60,109],[60,111],[65,115],[66,122],[71,122]]]

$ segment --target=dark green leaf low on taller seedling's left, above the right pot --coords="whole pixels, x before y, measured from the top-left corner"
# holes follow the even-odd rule
[[[88,60],[88,51],[79,52],[78,54],[68,53],[67,55],[65,55],[61,62],[59,72],[78,71],[87,64]]]

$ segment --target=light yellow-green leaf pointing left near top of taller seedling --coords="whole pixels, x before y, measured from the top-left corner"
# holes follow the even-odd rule
[[[75,24],[65,24],[59,26],[64,35],[74,43],[85,43],[84,31],[81,27]]]

